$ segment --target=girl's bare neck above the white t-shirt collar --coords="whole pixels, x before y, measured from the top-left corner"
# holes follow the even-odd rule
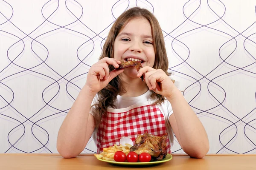
[[[122,86],[124,91],[119,95],[124,97],[137,97],[148,91],[147,84],[140,78],[122,79]]]

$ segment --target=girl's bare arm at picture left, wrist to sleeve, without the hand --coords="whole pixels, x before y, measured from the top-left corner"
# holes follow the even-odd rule
[[[93,133],[95,122],[89,112],[94,96],[84,86],[60,127],[57,150],[64,158],[79,155]]]

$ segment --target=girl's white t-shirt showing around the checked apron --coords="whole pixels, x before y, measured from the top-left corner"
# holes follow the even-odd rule
[[[154,103],[155,99],[151,99],[150,94],[151,94],[151,91],[148,90],[141,96],[137,96],[137,97],[124,97],[124,96],[118,95],[118,96],[116,96],[116,101],[114,102],[114,105],[116,105],[116,108],[109,107],[108,111],[111,112],[116,109],[119,111],[123,111],[123,110],[128,110],[129,108],[134,108],[134,107],[139,107],[140,105],[145,105],[145,103],[150,103],[150,104]],[[92,105],[95,102],[98,102],[98,94],[94,97]],[[173,135],[172,127],[169,122],[169,117],[173,113],[172,106],[167,99],[165,99],[161,104],[157,104],[156,106],[160,109],[161,113],[165,117],[166,131],[168,133],[171,146],[173,146],[174,135]],[[93,131],[93,134],[92,134],[92,137],[93,137],[93,140],[95,143],[96,143],[96,139],[97,139],[97,136],[96,136],[97,131],[98,131],[98,129],[95,128]]]

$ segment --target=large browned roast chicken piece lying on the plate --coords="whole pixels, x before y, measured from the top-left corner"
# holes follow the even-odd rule
[[[138,135],[135,144],[130,148],[130,152],[134,151],[138,155],[148,153],[151,155],[151,161],[160,161],[167,155],[167,136],[167,133],[162,137],[148,133]]]

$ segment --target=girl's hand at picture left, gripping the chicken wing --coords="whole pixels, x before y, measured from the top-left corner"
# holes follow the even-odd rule
[[[124,71],[123,69],[114,69],[109,72],[108,65],[110,64],[113,65],[114,68],[118,68],[121,62],[113,58],[104,57],[92,65],[88,71],[85,86],[92,95],[96,95],[100,90],[105,88],[114,77]]]

